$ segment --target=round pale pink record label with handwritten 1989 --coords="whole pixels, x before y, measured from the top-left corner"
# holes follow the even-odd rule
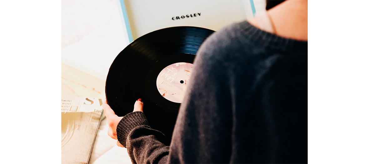
[[[165,67],[156,79],[156,87],[166,100],[182,103],[190,82],[192,63],[174,63]]]

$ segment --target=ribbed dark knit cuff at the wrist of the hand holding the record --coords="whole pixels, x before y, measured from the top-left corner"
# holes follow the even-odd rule
[[[131,112],[125,115],[117,125],[117,138],[120,144],[126,147],[128,134],[140,125],[149,126],[143,112]]]

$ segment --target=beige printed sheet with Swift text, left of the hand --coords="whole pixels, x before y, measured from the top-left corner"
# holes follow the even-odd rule
[[[62,96],[62,164],[87,164],[103,113],[102,100]]]

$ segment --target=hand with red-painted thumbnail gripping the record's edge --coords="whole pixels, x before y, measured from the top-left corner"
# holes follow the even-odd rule
[[[133,112],[144,112],[142,110],[143,108],[144,108],[144,103],[142,102],[141,99],[138,99],[134,104]],[[103,102],[103,109],[104,109],[106,120],[109,126],[108,135],[112,139],[117,140],[117,145],[119,147],[124,147],[122,144],[119,143],[118,138],[117,138],[117,126],[123,117],[119,117],[115,115],[113,109],[111,109],[110,106],[107,104],[106,99]]]

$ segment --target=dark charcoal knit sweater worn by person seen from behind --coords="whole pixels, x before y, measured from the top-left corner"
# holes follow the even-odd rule
[[[307,163],[307,42],[232,24],[201,45],[191,81],[169,146],[144,113],[120,121],[132,163]]]

